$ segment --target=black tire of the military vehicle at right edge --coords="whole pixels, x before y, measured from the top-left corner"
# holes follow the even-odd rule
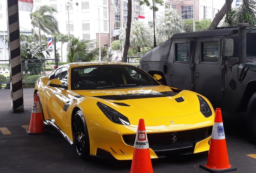
[[[249,141],[256,144],[256,93],[252,95],[247,107]]]

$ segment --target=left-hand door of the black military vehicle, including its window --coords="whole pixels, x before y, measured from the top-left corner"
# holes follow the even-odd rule
[[[192,54],[194,38],[173,39],[169,54],[169,76],[172,87],[193,90]]]

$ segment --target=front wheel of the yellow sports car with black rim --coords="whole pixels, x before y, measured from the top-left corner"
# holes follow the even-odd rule
[[[89,134],[82,111],[77,111],[72,121],[72,132],[76,153],[82,159],[88,159],[90,154]]]

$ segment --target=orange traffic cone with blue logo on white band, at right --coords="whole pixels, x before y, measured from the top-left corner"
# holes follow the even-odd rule
[[[207,163],[200,165],[200,167],[212,173],[224,173],[237,170],[236,167],[232,167],[229,164],[220,108],[217,108],[215,113]]]

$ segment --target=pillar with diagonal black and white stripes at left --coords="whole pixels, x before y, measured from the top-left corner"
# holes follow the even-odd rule
[[[10,89],[12,112],[23,112],[23,87],[21,75],[21,43],[18,0],[7,0]]]

